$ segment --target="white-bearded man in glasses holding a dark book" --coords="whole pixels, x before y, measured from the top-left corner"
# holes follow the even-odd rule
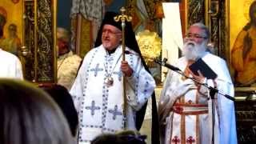
[[[168,71],[158,104],[162,143],[237,143],[234,102],[222,95],[234,97],[234,86],[226,62],[207,51],[209,39],[210,32],[204,24],[191,25],[184,38],[183,57],[175,63],[180,70],[178,73],[186,76]],[[206,74],[200,71],[203,68],[190,69],[197,62],[204,62],[217,76],[203,75]],[[214,87],[222,94],[216,93],[214,99],[210,99],[212,91],[206,86]]]

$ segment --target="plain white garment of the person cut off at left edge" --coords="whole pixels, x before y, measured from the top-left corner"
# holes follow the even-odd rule
[[[22,64],[14,55],[0,49],[0,78],[23,79]]]

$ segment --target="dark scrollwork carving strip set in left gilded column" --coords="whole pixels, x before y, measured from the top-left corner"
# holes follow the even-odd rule
[[[37,61],[38,82],[54,82],[54,33],[51,0],[38,0],[37,11]]]

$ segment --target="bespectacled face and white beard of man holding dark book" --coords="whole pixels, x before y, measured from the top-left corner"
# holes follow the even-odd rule
[[[188,60],[197,60],[202,58],[206,52],[207,38],[202,30],[198,26],[190,26],[186,38],[184,39],[184,46],[182,54]]]

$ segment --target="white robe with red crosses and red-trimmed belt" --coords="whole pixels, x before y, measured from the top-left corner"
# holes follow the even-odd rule
[[[226,62],[210,53],[206,53],[202,60],[218,74],[214,80],[205,80],[208,86],[216,86],[222,94],[234,97],[234,86]],[[187,63],[186,58],[179,58],[176,66],[186,74]],[[194,87],[182,89],[178,87],[182,81],[193,82],[181,74],[169,71],[162,90],[158,111],[162,125],[166,124],[165,143],[210,144],[213,129],[209,90],[204,86],[196,86],[194,82]],[[234,102],[221,94],[215,97],[214,143],[236,144]]]

